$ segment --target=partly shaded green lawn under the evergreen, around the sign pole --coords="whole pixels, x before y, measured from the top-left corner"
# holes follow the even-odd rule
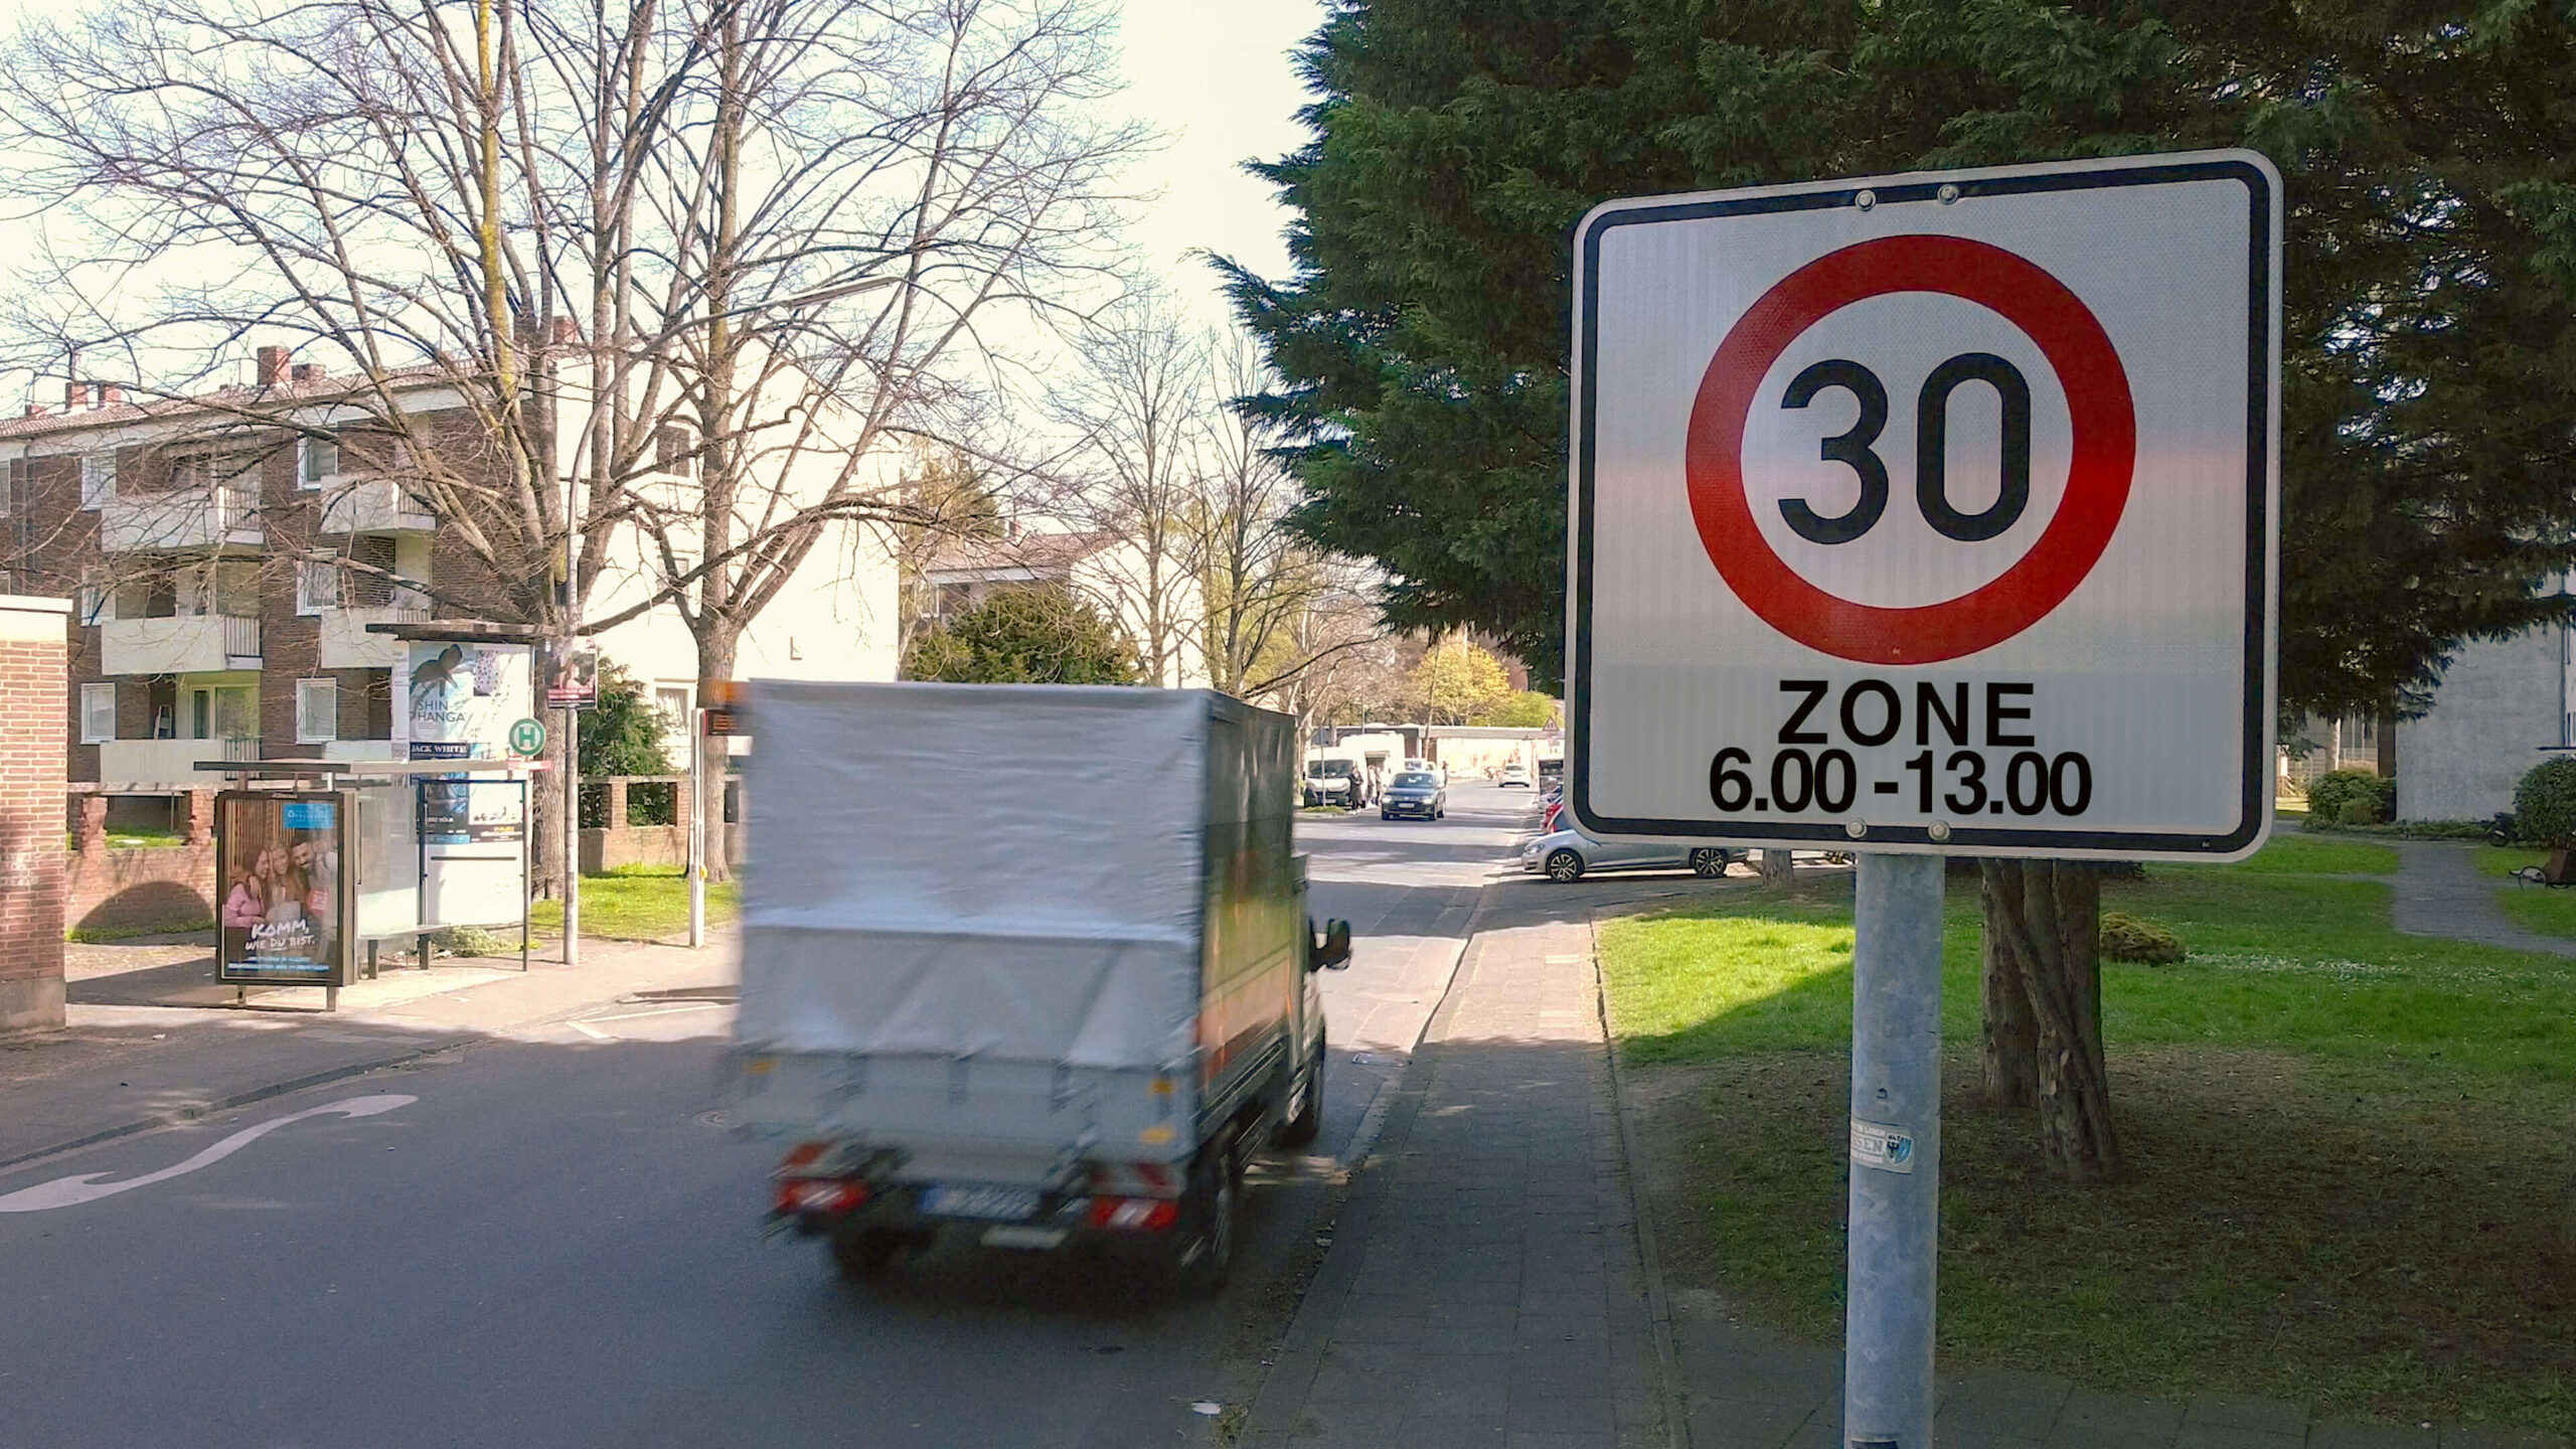
[[[2105,908],[2182,933],[2105,964],[2130,1173],[2069,1189],[1976,1080],[1978,905],[1953,879],[1942,1024],[1942,1341],[2107,1390],[2576,1431],[2576,964],[2388,928],[2385,846],[2282,838],[2148,866]],[[2568,892],[2550,892],[2568,895]],[[1850,890],[1739,890],[1602,926],[1623,1060],[1682,1106],[1674,1253],[1842,1336]]]

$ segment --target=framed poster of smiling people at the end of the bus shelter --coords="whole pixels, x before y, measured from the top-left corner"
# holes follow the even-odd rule
[[[214,835],[214,980],[348,985],[348,797],[224,792]]]

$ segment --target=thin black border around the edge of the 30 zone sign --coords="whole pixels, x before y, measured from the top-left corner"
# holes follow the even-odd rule
[[[1955,186],[1958,199],[2022,196],[2032,191],[2097,191],[2107,186],[2169,186],[2177,180],[2236,180],[2246,188],[2246,634],[2244,634],[2244,799],[2239,825],[2226,835],[2174,835],[2146,830],[2014,830],[1958,825],[1945,841],[1935,841],[1922,825],[1875,825],[1868,838],[1855,841],[1842,825],[1775,822],[1775,820],[1625,820],[1595,817],[1584,810],[1589,797],[1589,732],[1592,732],[1592,441],[1600,387],[1595,366],[1600,351],[1600,240],[1613,227],[1638,227],[1651,222],[1700,222],[1710,217],[1757,217],[1770,211],[1824,211],[1852,206],[1862,191],[1875,193],[1878,206],[1909,201],[1940,201],[1942,186]],[[2146,165],[2069,168],[2025,175],[1924,175],[1919,180],[1842,180],[1816,191],[1772,191],[1754,196],[1677,199],[1672,204],[1618,206],[1595,211],[1577,229],[1574,245],[1582,258],[1582,284],[1574,297],[1574,366],[1579,389],[1574,397],[1574,701],[1569,727],[1571,781],[1566,799],[1574,820],[1602,835],[1685,835],[1728,841],[1811,841],[1837,848],[1911,848],[1940,853],[2063,853],[2087,851],[2094,856],[2159,853],[2159,856],[2226,856],[2244,851],[2262,838],[2269,825],[2272,773],[2264,768],[2264,743],[2272,735],[2267,696],[2269,683],[2269,498],[2272,498],[2272,178],[2246,160],[2208,157]]]

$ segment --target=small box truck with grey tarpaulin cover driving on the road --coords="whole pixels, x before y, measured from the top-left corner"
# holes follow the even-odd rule
[[[737,1124],[845,1276],[1110,1240],[1213,1289],[1244,1163],[1311,1142],[1296,724],[1211,691],[762,683]]]

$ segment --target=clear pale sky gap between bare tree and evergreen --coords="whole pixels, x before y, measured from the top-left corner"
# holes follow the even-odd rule
[[[1141,209],[1136,248],[1193,315],[1218,322],[1224,302],[1193,248],[1285,276],[1288,211],[1242,162],[1275,160],[1306,131],[1306,93],[1288,52],[1324,23],[1319,0],[1126,0],[1126,111],[1162,131],[1139,168],[1162,201]]]

